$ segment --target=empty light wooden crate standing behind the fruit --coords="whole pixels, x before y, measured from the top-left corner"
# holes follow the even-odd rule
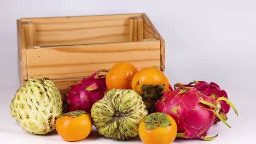
[[[165,41],[146,14],[27,18],[17,25],[20,84],[48,77],[65,93],[118,62],[165,69]]]

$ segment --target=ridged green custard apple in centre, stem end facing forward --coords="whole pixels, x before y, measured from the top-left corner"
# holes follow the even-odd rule
[[[142,97],[132,89],[111,89],[91,109],[98,133],[117,140],[138,135],[138,125],[148,115]]]

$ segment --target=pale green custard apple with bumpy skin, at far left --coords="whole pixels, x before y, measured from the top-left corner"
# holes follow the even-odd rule
[[[61,94],[53,81],[30,78],[16,92],[10,109],[22,128],[44,135],[55,129],[55,121],[61,115]]]

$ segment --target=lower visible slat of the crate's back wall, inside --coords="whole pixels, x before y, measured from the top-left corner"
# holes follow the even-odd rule
[[[129,41],[129,26],[37,31],[36,37],[39,46],[127,42]]]

